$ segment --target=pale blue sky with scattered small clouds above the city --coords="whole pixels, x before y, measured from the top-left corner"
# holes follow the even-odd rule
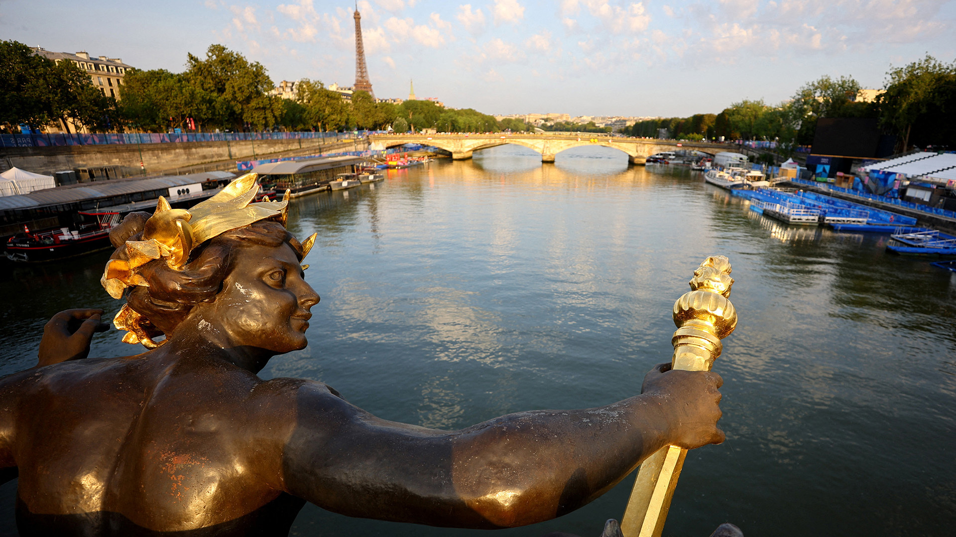
[[[376,97],[487,114],[689,116],[787,99],[822,75],[866,88],[956,60],[956,0],[359,0]],[[213,43],[272,81],[355,81],[355,3],[0,0],[0,38],[182,72]]]

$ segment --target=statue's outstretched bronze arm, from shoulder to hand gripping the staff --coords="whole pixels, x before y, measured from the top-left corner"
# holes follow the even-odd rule
[[[303,386],[286,443],[288,492],[357,517],[524,526],[594,500],[668,443],[720,442],[720,376],[666,371],[643,394],[585,410],[510,414],[459,431],[376,418]]]

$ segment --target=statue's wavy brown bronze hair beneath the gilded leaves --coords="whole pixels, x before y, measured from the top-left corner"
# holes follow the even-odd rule
[[[141,240],[150,216],[145,212],[130,213],[120,226],[110,231],[110,242],[117,248],[111,259],[127,259],[126,241]],[[263,220],[232,229],[194,247],[183,269],[170,268],[164,259],[150,261],[139,269],[149,287],[135,286],[128,290],[127,306],[142,316],[140,325],[146,333],[165,334],[169,338],[194,306],[215,300],[242,247],[282,244],[292,247],[298,260],[302,260],[302,244],[293,234],[278,222]]]

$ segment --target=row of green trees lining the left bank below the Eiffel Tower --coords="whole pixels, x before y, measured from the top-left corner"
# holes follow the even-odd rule
[[[498,122],[430,100],[396,105],[358,91],[346,101],[317,80],[298,81],[293,98],[272,96],[266,68],[222,45],[210,45],[205,56],[187,54],[182,73],[131,69],[122,80],[119,99],[104,97],[73,62],[56,63],[23,43],[0,41],[0,131],[18,132],[26,124],[69,132],[68,120],[92,132],[532,130],[524,121]]]

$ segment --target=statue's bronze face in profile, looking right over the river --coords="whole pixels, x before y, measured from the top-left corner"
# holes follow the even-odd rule
[[[289,245],[250,245],[236,252],[223,290],[202,311],[209,330],[225,330],[234,346],[275,354],[304,349],[309,310],[318,294],[302,278],[302,267]],[[205,325],[201,321],[199,330]]]

